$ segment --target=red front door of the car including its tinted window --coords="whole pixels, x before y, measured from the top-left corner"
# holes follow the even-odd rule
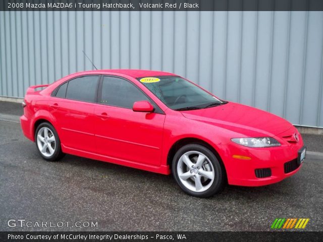
[[[135,101],[148,100],[154,112],[134,112]],[[119,161],[159,166],[165,114],[128,80],[104,76],[96,105],[97,153]]]

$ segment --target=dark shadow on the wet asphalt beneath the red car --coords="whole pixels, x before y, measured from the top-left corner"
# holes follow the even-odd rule
[[[87,159],[83,157],[66,155],[61,162],[64,166],[74,167],[78,170],[83,170],[85,176],[91,178],[92,180],[109,180],[114,178],[116,180],[123,180],[124,182],[138,185],[144,185],[150,183],[146,189],[159,190],[163,189],[167,191],[172,191],[178,196],[191,197],[186,195],[177,186],[172,175],[163,175],[158,173],[153,173],[145,170],[135,169],[127,166],[117,165],[109,162],[103,162],[98,160]],[[262,186],[262,187],[241,187],[241,186],[231,186],[227,185],[224,190],[211,198],[210,200],[221,200],[232,199],[237,197],[244,197],[249,200],[255,200],[257,197],[263,197],[268,199],[274,199],[276,196],[286,196],[286,187],[289,189],[293,187],[293,182],[287,178],[280,183]],[[117,185],[116,185],[117,186]],[[173,194],[174,195],[174,194]]]

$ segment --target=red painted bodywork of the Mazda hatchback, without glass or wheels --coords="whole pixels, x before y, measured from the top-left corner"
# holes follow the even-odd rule
[[[63,82],[82,75],[112,75],[125,78],[143,90],[164,114],[133,111],[128,108],[88,103],[57,97],[51,92]],[[185,138],[208,143],[221,157],[228,183],[262,186],[276,183],[294,173],[284,173],[284,163],[298,156],[303,140],[285,119],[274,114],[229,102],[211,108],[175,111],[168,108],[135,78],[175,76],[171,73],[141,70],[99,70],[69,75],[41,91],[27,90],[21,116],[24,135],[34,141],[35,124],[44,119],[55,127],[65,153],[170,174],[168,156],[173,145]],[[138,103],[138,109],[149,108]],[[298,142],[289,142],[293,134]],[[279,147],[248,148],[231,138],[273,137]],[[248,156],[250,160],[233,158]],[[257,178],[254,169],[271,168],[272,176]]]

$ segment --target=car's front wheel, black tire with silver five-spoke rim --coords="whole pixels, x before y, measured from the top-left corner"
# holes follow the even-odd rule
[[[172,171],[181,189],[195,197],[211,197],[225,185],[225,171],[218,158],[199,144],[180,148],[174,156]]]

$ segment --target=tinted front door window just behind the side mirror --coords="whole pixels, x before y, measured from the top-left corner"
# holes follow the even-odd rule
[[[132,108],[134,102],[142,100],[148,98],[130,82],[115,77],[103,78],[102,104]]]

